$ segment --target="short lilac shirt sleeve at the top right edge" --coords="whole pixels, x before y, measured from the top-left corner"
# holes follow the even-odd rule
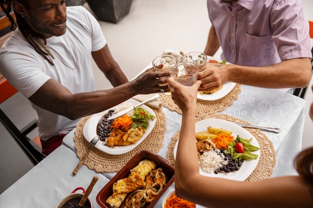
[[[308,19],[298,0],[275,1],[270,14],[272,39],[281,61],[292,58],[312,58]]]

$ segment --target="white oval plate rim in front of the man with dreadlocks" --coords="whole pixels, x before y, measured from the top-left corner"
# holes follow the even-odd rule
[[[133,103],[133,104],[137,104],[139,103],[138,101],[136,100],[133,100],[133,99],[129,99],[129,100],[126,100],[125,102],[123,103]],[[118,105],[117,105],[118,106]],[[147,107],[146,105],[141,105],[140,107],[144,108],[146,111],[148,111],[151,115],[153,115],[155,118],[153,119],[153,121],[151,120],[148,120],[149,121],[149,126],[148,128],[146,129],[146,131],[144,132],[144,134],[142,135],[142,137],[134,144],[132,145],[126,145],[126,146],[117,146],[117,147],[114,147],[114,148],[111,148],[111,147],[107,147],[105,146],[102,142],[102,141],[98,141],[98,143],[95,145],[95,147],[107,154],[111,154],[111,155],[121,155],[121,154],[124,154],[124,153],[127,153],[131,150],[133,150],[135,147],[137,147],[148,135],[149,133],[152,131],[155,123],[156,123],[156,116],[155,116],[155,113],[149,108]],[[113,107],[113,108],[110,108],[110,109],[114,109],[116,108]],[[100,120],[100,118],[105,114],[107,113],[110,109],[107,109],[105,111],[102,111],[100,113],[96,113],[96,114],[93,114],[92,116],[90,116],[90,118],[86,121],[85,125],[83,126],[83,129],[82,129],[82,133],[83,133],[83,136],[86,138],[86,140],[88,142],[91,141],[91,139],[93,137],[96,136],[96,126]]]

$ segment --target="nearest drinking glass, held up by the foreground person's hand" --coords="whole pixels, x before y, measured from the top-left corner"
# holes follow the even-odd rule
[[[175,81],[185,86],[192,86],[198,78],[199,68],[190,62],[178,63],[172,70],[171,73]]]

